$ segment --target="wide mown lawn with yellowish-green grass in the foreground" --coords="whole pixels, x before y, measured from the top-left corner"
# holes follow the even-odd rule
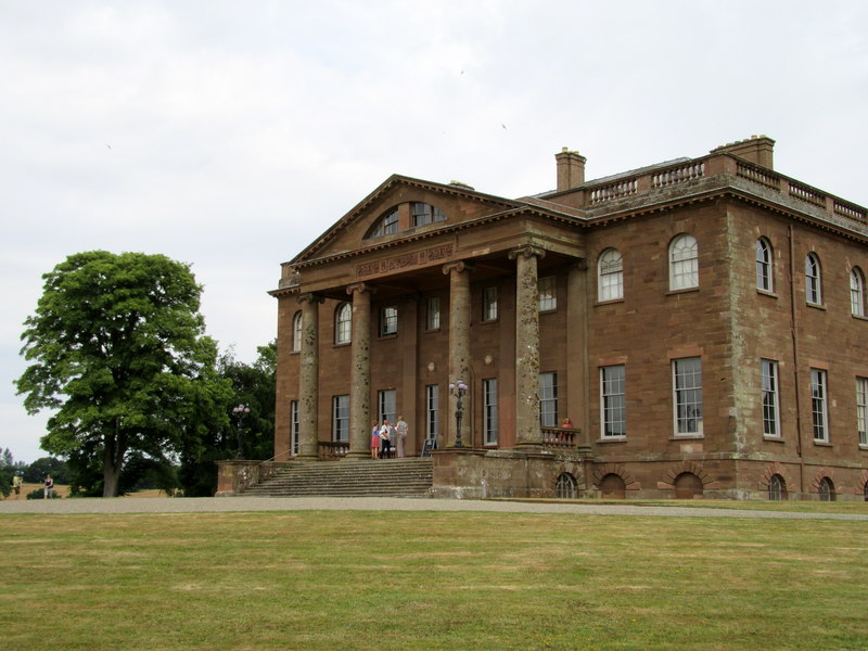
[[[868,647],[861,521],[4,515],[0,546],[18,651]]]

